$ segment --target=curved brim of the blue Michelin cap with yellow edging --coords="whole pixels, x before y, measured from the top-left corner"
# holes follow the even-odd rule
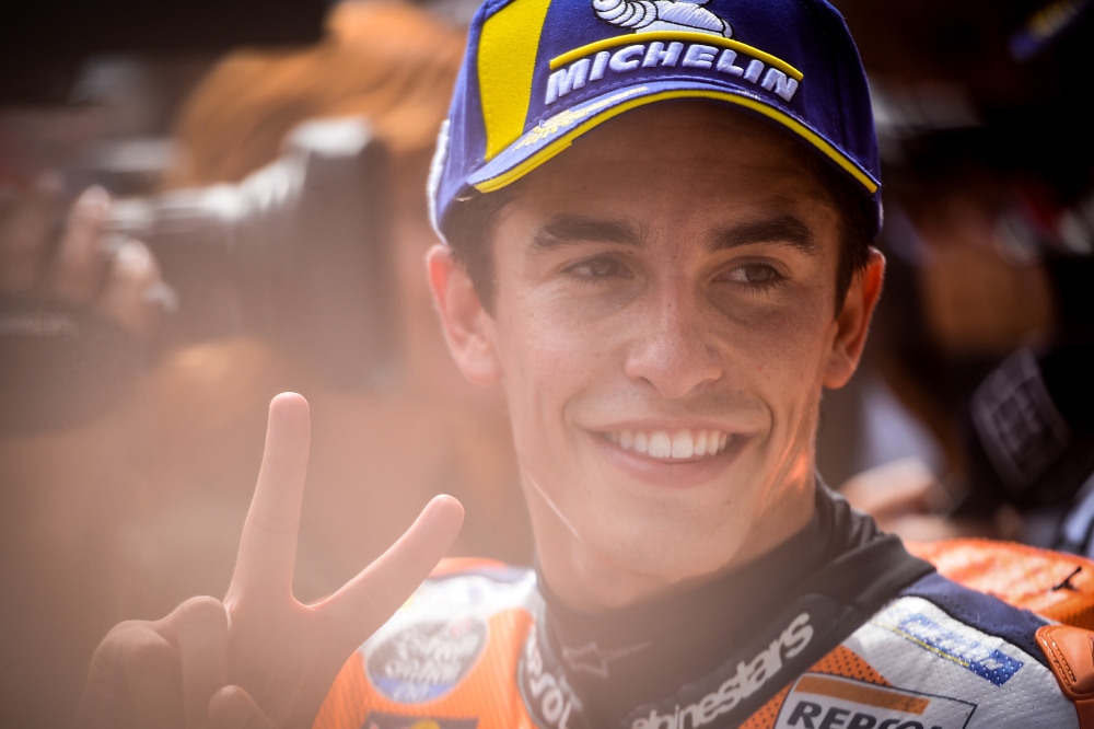
[[[743,89],[678,80],[613,89],[608,93],[567,108],[533,127],[470,175],[467,182],[480,193],[500,189],[528,174],[569,147],[574,139],[612,117],[638,106],[679,99],[709,99],[761,114],[782,125],[831,160],[853,177],[866,194],[873,195],[877,192],[878,182],[870,173],[801,119]]]

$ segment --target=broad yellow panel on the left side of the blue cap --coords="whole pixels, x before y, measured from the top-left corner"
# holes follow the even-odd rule
[[[549,5],[550,0],[513,0],[482,25],[478,81],[487,160],[524,131],[539,32]]]

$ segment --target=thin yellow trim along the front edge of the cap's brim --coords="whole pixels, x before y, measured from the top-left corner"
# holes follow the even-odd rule
[[[639,106],[645,106],[647,104],[652,104],[659,101],[667,101],[670,99],[713,99],[717,101],[729,102],[730,104],[736,104],[737,106],[744,106],[745,108],[749,108],[754,112],[763,114],[764,116],[783,125],[784,127],[787,127],[788,129],[800,136],[802,139],[813,144],[822,153],[824,153],[825,157],[830,159],[833,162],[835,162],[840,167],[846,170],[848,174],[850,174],[852,177],[859,181],[859,183],[863,187],[865,187],[871,195],[877,192],[877,183],[875,183],[870,177],[870,175],[863,172],[857,164],[854,164],[854,162],[849,160],[839,150],[829,144],[827,141],[825,141],[822,137],[819,137],[808,127],[803,125],[801,121],[783,114],[777,108],[772,108],[767,104],[763,104],[754,99],[748,99],[747,96],[738,96],[737,94],[730,94],[721,91],[707,91],[699,89],[695,90],[679,89],[675,91],[663,91],[661,93],[650,94],[649,96],[640,96],[639,99],[632,99],[631,101],[624,102],[618,106],[613,106],[612,108],[600,114],[598,116],[594,116],[593,118],[589,119],[589,121],[578,126],[574,129],[571,129],[569,132],[567,132],[562,137],[559,137],[550,144],[544,147],[542,150],[539,150],[538,152],[526,159],[524,162],[521,162],[512,170],[503,172],[496,177],[491,177],[490,180],[486,180],[484,182],[478,183],[477,185],[475,185],[475,189],[479,190],[480,193],[492,193],[496,189],[501,189],[505,185],[516,182],[524,175],[528,174],[529,172],[542,165],[547,160],[551,159],[559,152],[563,151],[567,147],[570,146],[570,143],[574,139],[585,134],[593,127],[600,124],[604,124],[612,117],[619,116],[624,112],[628,112],[632,108],[637,108]],[[548,123],[550,119],[548,119]],[[536,134],[536,130],[533,129],[528,134]]]

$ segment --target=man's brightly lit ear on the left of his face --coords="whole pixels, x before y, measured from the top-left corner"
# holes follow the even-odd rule
[[[467,270],[452,257],[447,245],[430,248],[426,264],[444,338],[459,371],[475,384],[498,382],[501,362],[493,347],[492,320]]]

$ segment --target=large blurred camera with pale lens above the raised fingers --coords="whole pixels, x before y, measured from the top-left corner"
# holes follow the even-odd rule
[[[388,181],[363,119],[319,119],[241,183],[120,200],[108,225],[159,261],[166,340],[258,335],[333,385],[372,387],[396,364]]]

